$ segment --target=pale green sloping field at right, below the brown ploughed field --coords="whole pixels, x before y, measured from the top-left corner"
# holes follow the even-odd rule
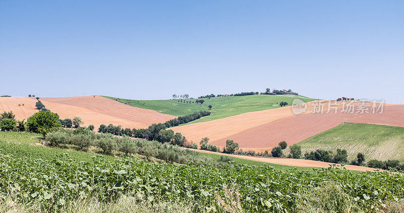
[[[400,160],[404,162],[404,128],[366,123],[343,123],[327,131],[302,140],[302,153],[315,149],[346,149],[348,159],[358,152],[365,160]]]

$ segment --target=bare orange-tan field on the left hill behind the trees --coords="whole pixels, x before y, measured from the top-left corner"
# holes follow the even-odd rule
[[[46,107],[63,118],[81,117],[84,125],[114,124],[129,128],[146,128],[152,123],[166,122],[176,118],[153,110],[131,107],[100,96],[79,96],[39,99]],[[34,97],[1,97],[0,112],[13,111],[16,119],[24,119],[38,112]],[[21,106],[18,106],[21,104]],[[24,106],[22,106],[24,104]]]

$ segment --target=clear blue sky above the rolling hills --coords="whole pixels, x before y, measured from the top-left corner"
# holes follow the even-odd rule
[[[403,1],[0,1],[0,93],[404,103]]]

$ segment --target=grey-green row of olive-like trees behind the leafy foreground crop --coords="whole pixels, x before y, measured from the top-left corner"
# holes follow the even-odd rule
[[[47,133],[46,140],[49,146],[65,147],[66,145],[77,147],[77,149],[86,151],[89,146],[102,150],[103,154],[138,154],[144,156],[147,160],[156,158],[168,163],[180,164],[205,164],[218,167],[228,167],[224,162],[214,161],[212,158],[198,156],[197,153],[181,149],[177,145],[169,143],[160,143],[159,141],[149,141],[145,139],[134,139],[127,136],[116,137],[109,133],[98,133],[83,128],[87,132],[72,131],[70,129],[60,129]]]

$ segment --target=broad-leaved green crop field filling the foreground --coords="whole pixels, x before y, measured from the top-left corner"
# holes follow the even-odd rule
[[[155,164],[34,146],[39,137],[0,132],[0,208],[5,211],[15,209],[14,205],[1,205],[5,197],[19,205],[59,212],[85,197],[109,203],[126,195],[132,197],[131,205],[142,201],[191,203],[193,212],[224,212],[216,198],[225,199],[223,184],[237,187],[240,200],[236,201],[245,212],[303,212],[318,205],[313,198],[329,205],[338,199],[339,209],[378,212],[382,204],[404,198],[400,174],[354,174],[332,168],[280,171],[269,165],[215,168]]]

